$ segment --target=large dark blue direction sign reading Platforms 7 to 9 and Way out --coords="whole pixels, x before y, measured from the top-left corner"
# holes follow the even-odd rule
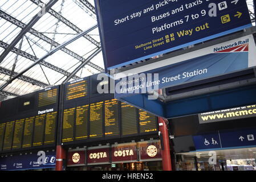
[[[95,0],[105,67],[251,27],[244,0]]]

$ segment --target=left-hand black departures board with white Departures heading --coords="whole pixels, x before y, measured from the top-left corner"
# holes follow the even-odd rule
[[[54,86],[3,101],[0,152],[55,146],[58,97],[59,86]]]

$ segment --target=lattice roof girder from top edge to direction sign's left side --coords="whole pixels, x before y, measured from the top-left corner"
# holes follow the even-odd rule
[[[30,0],[32,3],[35,3],[36,5],[39,5],[39,3],[43,3],[40,0]],[[57,13],[56,11],[50,9],[48,11],[49,14],[51,14],[52,16],[54,16],[55,18],[59,18],[59,20],[66,24],[66,26],[70,27],[72,30],[80,33],[83,30],[81,30],[80,28],[78,28],[77,26],[75,26],[75,24],[71,23],[69,20],[67,20],[66,18],[64,18],[62,15],[60,15],[59,13]],[[93,43],[95,46],[100,47],[100,43],[97,42],[94,38],[92,38],[90,35],[84,35],[84,38],[86,38],[87,40],[89,40],[91,43]]]

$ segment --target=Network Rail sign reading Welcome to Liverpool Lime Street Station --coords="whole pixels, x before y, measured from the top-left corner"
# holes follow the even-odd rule
[[[253,35],[129,69],[115,75],[115,97],[145,94],[256,66]]]

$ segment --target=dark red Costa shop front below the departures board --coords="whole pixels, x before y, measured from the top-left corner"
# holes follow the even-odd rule
[[[160,140],[68,151],[68,171],[162,170]]]

